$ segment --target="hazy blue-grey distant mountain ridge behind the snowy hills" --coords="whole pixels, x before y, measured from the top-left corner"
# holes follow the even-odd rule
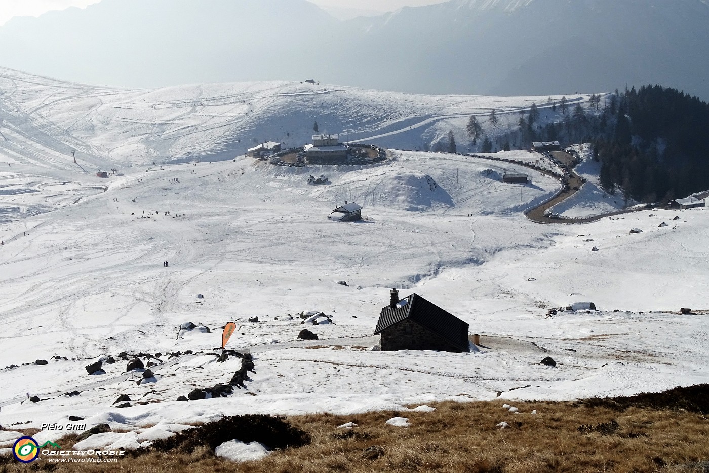
[[[450,0],[338,21],[305,0],[103,0],[13,18],[0,65],[160,87],[305,80],[425,94],[661,84],[709,98],[707,0]]]

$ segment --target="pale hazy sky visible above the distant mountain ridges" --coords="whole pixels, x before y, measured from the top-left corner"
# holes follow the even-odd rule
[[[323,6],[351,9],[391,11],[402,6],[440,4],[445,0],[310,0]],[[84,7],[99,0],[0,0],[0,25],[13,16],[38,16],[49,10],[63,10],[67,6]]]

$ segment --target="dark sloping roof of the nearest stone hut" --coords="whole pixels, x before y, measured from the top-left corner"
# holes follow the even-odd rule
[[[396,306],[391,308],[387,305],[381,309],[374,335],[379,335],[383,330],[408,318],[439,335],[454,347],[460,348],[465,352],[468,351],[467,323],[416,293],[408,295],[401,300],[404,299],[407,300],[407,303],[402,308],[397,308]]]

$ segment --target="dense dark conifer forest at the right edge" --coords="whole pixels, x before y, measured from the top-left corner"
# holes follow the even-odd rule
[[[618,94],[614,126],[594,141],[601,185],[641,202],[709,190],[709,105],[676,89],[647,85]]]

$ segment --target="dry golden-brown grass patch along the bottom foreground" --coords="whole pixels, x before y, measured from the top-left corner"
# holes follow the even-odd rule
[[[199,447],[191,452],[150,452],[118,464],[59,465],[51,471],[649,473],[709,460],[709,420],[700,413],[632,406],[621,411],[597,403],[507,402],[520,413],[502,408],[503,401],[474,401],[434,403],[437,411],[432,413],[294,416],[287,420],[310,434],[311,442],[274,451],[258,462],[234,464],[214,457],[209,447]],[[531,414],[534,409],[536,415]],[[407,417],[411,428],[385,424],[396,416]],[[350,421],[357,427],[336,428]],[[510,428],[496,428],[503,421]],[[582,425],[590,428],[579,429]],[[33,465],[43,467],[51,465]],[[26,467],[13,462],[0,467],[1,473],[20,471]]]

